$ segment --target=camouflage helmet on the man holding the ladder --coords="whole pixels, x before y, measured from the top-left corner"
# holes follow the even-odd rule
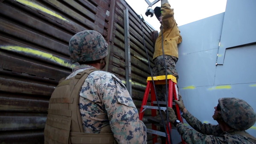
[[[239,98],[220,98],[221,118],[233,129],[247,130],[256,121],[253,108]]]

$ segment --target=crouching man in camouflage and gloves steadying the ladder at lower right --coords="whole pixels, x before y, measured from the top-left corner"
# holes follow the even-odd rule
[[[174,121],[177,131],[187,144],[256,144],[256,138],[245,131],[256,121],[253,108],[245,101],[238,98],[220,98],[212,116],[218,125],[202,124],[186,110],[182,100],[175,102],[182,109],[183,118],[195,129],[175,122],[173,109],[168,109],[169,120]]]

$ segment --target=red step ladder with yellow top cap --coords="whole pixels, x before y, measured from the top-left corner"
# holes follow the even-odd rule
[[[160,84],[165,85],[166,84],[166,76],[165,75],[154,76],[153,81],[154,81],[155,85],[160,85]],[[148,77],[147,87],[146,87],[146,90],[145,90],[145,94],[144,94],[144,97],[143,97],[143,101],[142,101],[142,105],[140,107],[140,113],[139,113],[139,118],[140,118],[141,121],[143,119],[144,111],[146,109],[151,109],[151,116],[153,116],[153,117],[157,115],[156,110],[159,109],[159,107],[157,106],[153,81],[152,81],[152,77]],[[167,75],[167,84],[168,84],[168,107],[172,107],[172,105],[175,105],[176,112],[177,112],[177,119],[180,120],[180,122],[183,123],[183,119],[180,116],[179,106],[176,103],[173,104],[173,102],[172,102],[172,100],[173,100],[172,96],[173,95],[174,95],[175,100],[179,99],[179,96],[177,95],[178,90],[177,90],[177,81],[176,81],[175,76]],[[148,101],[148,95],[149,95],[150,90],[151,90],[151,106],[147,106],[146,103]],[[166,104],[165,101],[158,101],[158,103],[159,104]],[[160,109],[161,110],[166,110],[166,107],[160,107]],[[169,124],[166,124],[166,132],[167,132],[166,143],[169,141],[169,144],[171,144],[170,136],[169,136],[171,132],[169,132],[168,126],[170,127],[170,130],[172,130],[171,122],[169,122]],[[163,137],[166,137],[166,133],[157,131],[157,126],[153,123],[152,123],[152,130],[147,129],[147,132],[153,134],[152,135],[153,136],[153,144],[155,144],[157,142],[157,135],[161,135]],[[186,144],[183,139],[182,139],[182,144]]]

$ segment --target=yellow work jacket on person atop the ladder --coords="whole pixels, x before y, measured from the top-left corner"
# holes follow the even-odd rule
[[[164,55],[171,55],[178,58],[178,44],[181,43],[182,37],[174,19],[174,12],[169,3],[164,3],[161,6],[162,25],[160,33],[157,37],[154,49],[153,59],[163,55],[162,50],[162,32],[163,32],[163,49]],[[162,28],[163,27],[163,28]]]

